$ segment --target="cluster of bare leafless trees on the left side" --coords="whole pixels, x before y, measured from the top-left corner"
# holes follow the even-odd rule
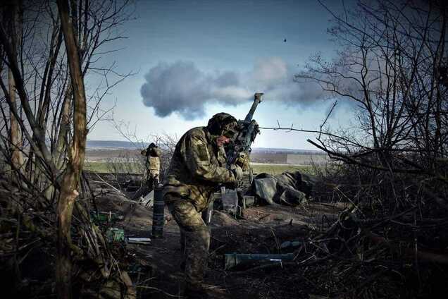
[[[76,199],[87,133],[108,112],[101,109],[101,100],[127,76],[116,73],[114,64],[101,66],[98,55],[110,51],[101,52],[105,44],[123,38],[117,28],[132,16],[127,4],[125,0],[0,4],[0,109],[4,116],[0,157],[29,195],[29,202],[21,202],[20,209],[27,205],[56,210],[60,298],[71,296],[73,252],[82,252],[72,243],[70,231],[74,207],[85,215]],[[89,94],[84,82],[92,75],[105,83]],[[88,216],[80,218],[89,224]],[[92,227],[90,233],[90,240],[99,238]],[[101,248],[106,250],[104,245]],[[101,256],[106,255],[96,252],[96,259]]]

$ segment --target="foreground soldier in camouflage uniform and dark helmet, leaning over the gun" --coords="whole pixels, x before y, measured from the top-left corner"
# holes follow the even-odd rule
[[[192,128],[176,145],[166,174],[163,195],[181,231],[187,296],[204,294],[201,283],[209,254],[210,230],[201,212],[213,200],[213,192],[220,183],[235,186],[242,177],[239,166],[226,168],[223,148],[237,130],[237,120],[225,113],[213,116],[206,127]]]

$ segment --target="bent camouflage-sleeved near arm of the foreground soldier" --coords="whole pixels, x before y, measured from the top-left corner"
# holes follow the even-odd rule
[[[185,162],[193,176],[214,183],[235,182],[232,171],[211,162],[211,153],[203,136],[191,135],[185,143]]]

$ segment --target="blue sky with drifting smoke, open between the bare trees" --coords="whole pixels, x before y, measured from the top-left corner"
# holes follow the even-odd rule
[[[324,3],[342,9],[342,1]],[[127,38],[107,48],[119,50],[101,61],[133,74],[109,92],[104,109],[116,103],[113,118],[137,138],[180,138],[218,112],[244,119],[255,92],[264,92],[254,114],[259,126],[316,130],[334,102],[315,84],[293,80],[311,54],[335,53],[330,14],[317,1],[141,0],[134,16],[120,28]],[[339,104],[330,125],[350,114]],[[108,121],[88,138],[124,140]],[[254,147],[315,149],[307,138],[315,135],[261,130]]]

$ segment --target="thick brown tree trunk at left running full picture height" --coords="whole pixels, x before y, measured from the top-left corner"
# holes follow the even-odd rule
[[[87,137],[86,98],[85,87],[82,80],[79,52],[73,33],[73,23],[69,18],[68,1],[58,0],[59,17],[66,44],[68,66],[73,91],[73,142],[68,149],[68,165],[61,182],[59,196],[58,239],[56,257],[56,292],[58,298],[71,298],[72,260],[70,226],[73,205],[78,192],[78,184],[82,165],[84,164],[85,144]]]

